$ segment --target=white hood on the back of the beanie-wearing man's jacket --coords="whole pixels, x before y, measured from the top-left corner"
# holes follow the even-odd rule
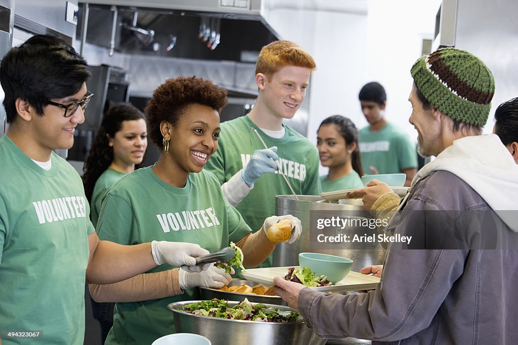
[[[518,232],[518,212],[499,212],[518,211],[518,165],[496,134],[453,141],[453,145],[418,171],[412,186],[436,170],[462,178],[511,230]]]

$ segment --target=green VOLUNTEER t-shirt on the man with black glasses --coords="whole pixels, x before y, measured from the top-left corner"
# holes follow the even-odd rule
[[[40,331],[12,344],[77,344],[84,338],[90,207],[76,170],[51,154],[40,168],[0,139],[0,330]]]

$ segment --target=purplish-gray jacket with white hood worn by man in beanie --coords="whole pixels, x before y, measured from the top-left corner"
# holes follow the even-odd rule
[[[413,236],[412,246],[389,246],[376,290],[343,296],[306,288],[301,314],[323,338],[514,344],[517,200],[518,166],[497,136],[454,141],[419,171],[389,224]],[[429,249],[408,249],[420,247]]]

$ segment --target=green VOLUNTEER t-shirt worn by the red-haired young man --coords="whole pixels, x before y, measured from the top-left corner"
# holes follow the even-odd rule
[[[283,138],[271,138],[254,125],[248,115],[221,124],[218,150],[210,157],[205,168],[218,177],[220,184],[241,170],[256,149],[264,148],[250,127],[260,133],[268,147],[277,146],[282,171],[296,194],[320,194],[320,161],[316,146],[288,126],[284,126],[286,132]],[[276,214],[275,197],[284,194],[291,195],[292,192],[281,174],[263,174],[256,179],[254,188],[236,208],[255,232],[261,229],[266,218]],[[271,266],[270,255],[259,267]]]

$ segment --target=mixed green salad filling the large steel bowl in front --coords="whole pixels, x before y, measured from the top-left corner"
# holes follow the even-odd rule
[[[228,306],[228,301],[224,299],[213,298],[210,301],[185,305],[184,308],[184,311],[190,314],[220,319],[284,323],[304,321],[296,310],[279,310],[279,308],[266,307],[262,303],[251,304],[247,298],[234,307]]]

